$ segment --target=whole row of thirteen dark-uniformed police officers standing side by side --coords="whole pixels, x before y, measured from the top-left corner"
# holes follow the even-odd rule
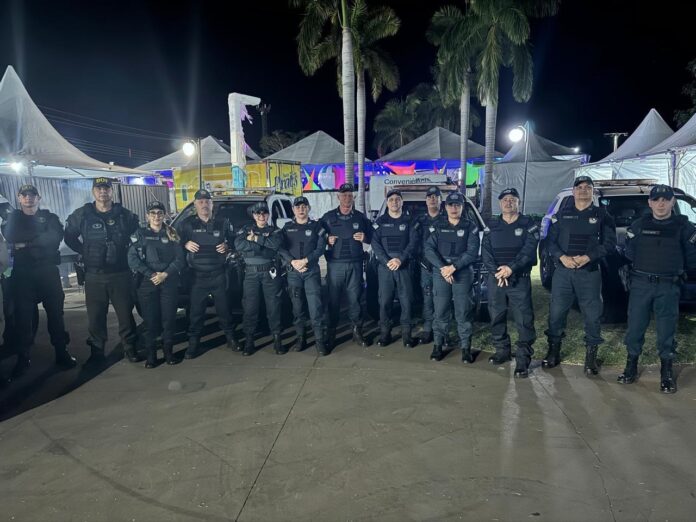
[[[568,312],[577,300],[584,319],[588,375],[598,373],[597,349],[603,341],[601,260],[616,250],[613,219],[604,208],[593,204],[593,189],[589,177],[578,177],[573,186],[573,205],[562,208],[551,219],[547,245],[556,266],[546,331],[548,352],[542,361],[546,368],[560,363]],[[264,202],[250,208],[252,222],[235,230],[226,218],[215,215],[211,194],[204,189],[194,196],[195,213],[185,218],[178,230],[165,223],[165,207],[157,201],[147,207],[147,225],[139,227],[137,216],[113,202],[113,186],[108,178],[94,180],[93,195],[94,202],[73,212],[63,230],[55,214],[39,208],[41,198],[34,186],[24,185],[19,190],[19,208],[4,226],[14,257],[10,291],[19,332],[17,362],[11,379],[19,378],[29,367],[33,311],[38,302],[46,310],[56,363],[64,368],[76,365],[75,358],[67,351],[64,294],[56,266],[60,262],[58,246],[62,239],[80,254],[84,264],[87,344],[91,349],[88,364],[99,363],[104,358],[109,303],[116,311],[126,357],[131,362],[142,360],[135,347],[132,315],[135,296],[145,323],[145,366],[157,365],[156,341],[160,334],[165,362],[179,362],[173,354],[173,345],[178,289],[182,285],[189,288],[190,296],[186,359],[199,353],[210,296],[215,301],[228,348],[242,351],[245,356],[254,353],[254,335],[263,300],[274,350],[278,354],[287,353],[288,347],[281,341],[280,298],[284,291],[281,261],[288,274],[295,350],[302,351],[307,346],[307,310],[317,353],[322,356],[330,353],[336,344],[343,296],[347,299],[353,341],[367,346],[361,304],[363,245],[371,244],[379,284],[379,346],[393,342],[392,305],[396,294],[405,348],[433,342],[430,357],[442,360],[449,343],[453,309],[462,361],[473,363],[473,289],[480,250],[488,274],[488,310],[495,348],[489,361],[498,365],[512,359],[507,331],[510,312],[518,331],[514,375],[524,378],[529,374],[536,340],[530,271],[536,264],[539,226],[520,214],[520,198],[515,188],[500,193],[501,213],[483,231],[482,244],[477,223],[465,212],[464,196],[459,192],[449,193],[443,211],[442,194],[436,186],[427,190],[427,212],[419,216],[404,212],[401,192],[390,190],[386,196],[387,211],[373,224],[353,207],[350,184],[339,188],[338,207],[319,221],[309,217],[307,198],[298,197],[293,203],[294,219],[281,230],[270,223]],[[618,381],[630,384],[636,380],[638,357],[652,313],[662,362],[660,389],[674,393],[672,361],[680,286],[685,270],[696,265],[696,228],[672,212],[675,197],[670,187],[653,187],[648,203],[650,215],[637,219],[629,227],[624,249],[631,263],[631,292],[625,338],[628,357]],[[226,265],[233,251],[244,264],[243,348],[229,306]],[[327,261],[327,303],[322,298],[321,256]],[[423,326],[418,340],[413,337],[414,275],[420,276],[423,294]]]

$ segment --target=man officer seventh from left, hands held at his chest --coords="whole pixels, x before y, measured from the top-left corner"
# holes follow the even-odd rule
[[[363,337],[363,311],[360,298],[363,288],[363,243],[372,240],[372,226],[365,214],[353,208],[353,185],[344,183],[338,189],[338,208],[329,210],[321,218],[328,234],[326,252],[329,291],[328,342],[336,343],[336,327],[341,307],[341,296],[348,299],[348,317],[353,330],[353,341],[361,346],[368,343]]]

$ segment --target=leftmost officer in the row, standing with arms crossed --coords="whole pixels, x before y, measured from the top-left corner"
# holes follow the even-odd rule
[[[11,379],[21,377],[29,368],[32,325],[38,302],[46,310],[56,364],[62,368],[72,368],[77,364],[66,348],[65,294],[57,266],[60,264],[58,248],[63,240],[63,225],[58,216],[39,208],[41,196],[33,185],[22,185],[17,201],[19,209],[9,215],[5,227],[5,237],[12,245],[14,256],[10,288],[15,303],[18,344],[17,363]]]

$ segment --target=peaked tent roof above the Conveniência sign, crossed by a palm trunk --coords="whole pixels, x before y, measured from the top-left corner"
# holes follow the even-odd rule
[[[459,159],[459,140],[459,134],[435,127],[403,147],[382,156],[378,161]],[[480,158],[484,154],[485,148],[482,145],[469,140],[468,157]]]

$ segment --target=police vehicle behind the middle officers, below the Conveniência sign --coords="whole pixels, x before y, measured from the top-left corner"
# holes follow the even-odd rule
[[[387,176],[388,178],[400,178],[397,181],[401,183],[405,183],[407,181],[411,181],[408,179],[405,179],[404,176]],[[440,175],[440,176],[433,176],[433,175],[428,175],[428,176],[418,176],[417,181],[419,183],[412,183],[412,184],[385,184],[384,185],[384,194],[380,194],[381,197],[381,205],[378,206],[379,211],[377,211],[374,214],[374,219],[373,221],[376,221],[377,218],[379,218],[382,214],[387,212],[387,202],[385,199],[386,192],[391,190],[392,188],[397,188],[401,191],[403,200],[404,200],[404,205],[403,205],[403,212],[410,214],[411,216],[417,217],[421,214],[425,214],[428,210],[425,205],[425,192],[428,190],[428,187],[432,185],[436,185],[439,189],[440,192],[442,193],[442,211],[443,213],[445,212],[445,199],[447,198],[447,194],[450,192],[456,192],[458,191],[458,187],[456,184],[453,182],[449,181],[446,176]],[[373,179],[371,182],[370,186],[370,191],[375,190],[375,180]],[[483,221],[483,218],[481,217],[481,214],[479,214],[478,209],[476,208],[476,205],[474,205],[473,201],[471,200],[471,197],[475,195],[476,189],[467,189],[466,191],[466,205],[463,210],[462,215],[466,216],[469,220],[473,221],[476,223],[476,226],[479,229],[479,234],[480,236],[483,236],[483,231],[486,228],[486,224]],[[480,253],[480,252],[479,252]],[[367,313],[375,319],[376,321],[379,320],[379,299],[378,299],[378,287],[379,284],[377,282],[377,260],[375,259],[374,253],[372,253],[372,250],[370,249],[369,252],[369,258],[367,261],[367,266],[365,268],[365,278],[367,282],[367,296],[366,296],[366,306],[367,306]],[[412,263],[411,267],[409,268],[411,270],[411,274],[414,278],[413,281],[413,299],[414,302],[412,304],[412,310],[413,310],[413,317],[419,317],[420,316],[420,309],[421,306],[423,305],[423,296],[421,294],[421,286],[420,286],[420,270],[418,269],[417,263]],[[487,291],[487,276],[488,276],[488,271],[485,269],[481,261],[477,261],[476,265],[474,266],[474,310],[475,310],[475,317],[479,321],[488,321],[488,291]],[[395,297],[395,300],[398,300],[397,297]],[[398,313],[395,307],[395,313]]]

